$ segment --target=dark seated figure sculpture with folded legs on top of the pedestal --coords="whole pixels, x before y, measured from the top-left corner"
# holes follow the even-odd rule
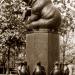
[[[31,6],[31,15],[26,22],[27,29],[58,28],[61,23],[61,15],[51,0],[24,0]]]

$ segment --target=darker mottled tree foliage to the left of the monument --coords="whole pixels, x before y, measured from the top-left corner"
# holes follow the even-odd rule
[[[19,53],[18,50],[25,46],[25,26],[22,22],[22,14],[14,13],[16,10],[23,11],[24,9],[21,8],[24,3],[21,0],[2,0],[0,5],[0,52],[6,58],[8,47],[10,47],[10,54],[14,54],[14,52]]]

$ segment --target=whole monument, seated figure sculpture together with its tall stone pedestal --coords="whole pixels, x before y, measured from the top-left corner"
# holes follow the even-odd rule
[[[30,71],[32,73],[36,63],[41,61],[49,75],[54,62],[59,60],[58,28],[61,15],[51,0],[24,1],[31,6],[31,15],[26,22],[26,54]]]

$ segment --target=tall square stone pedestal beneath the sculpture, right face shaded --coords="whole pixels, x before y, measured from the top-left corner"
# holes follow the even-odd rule
[[[36,63],[41,61],[46,74],[53,69],[54,62],[59,60],[59,35],[48,30],[39,30],[26,34],[27,61],[32,73]]]

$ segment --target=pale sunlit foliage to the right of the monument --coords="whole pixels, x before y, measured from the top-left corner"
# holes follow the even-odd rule
[[[72,6],[70,2],[65,1],[65,3],[62,3],[61,1],[57,1],[54,3],[55,6],[59,9],[62,17],[62,22],[59,28],[59,34],[60,34],[60,55],[62,55],[63,60],[69,61],[70,59],[68,56],[72,59],[72,54],[74,52],[74,46],[73,43],[73,33],[75,30],[75,22],[74,22],[74,16],[72,13]],[[74,9],[74,8],[73,8]]]

